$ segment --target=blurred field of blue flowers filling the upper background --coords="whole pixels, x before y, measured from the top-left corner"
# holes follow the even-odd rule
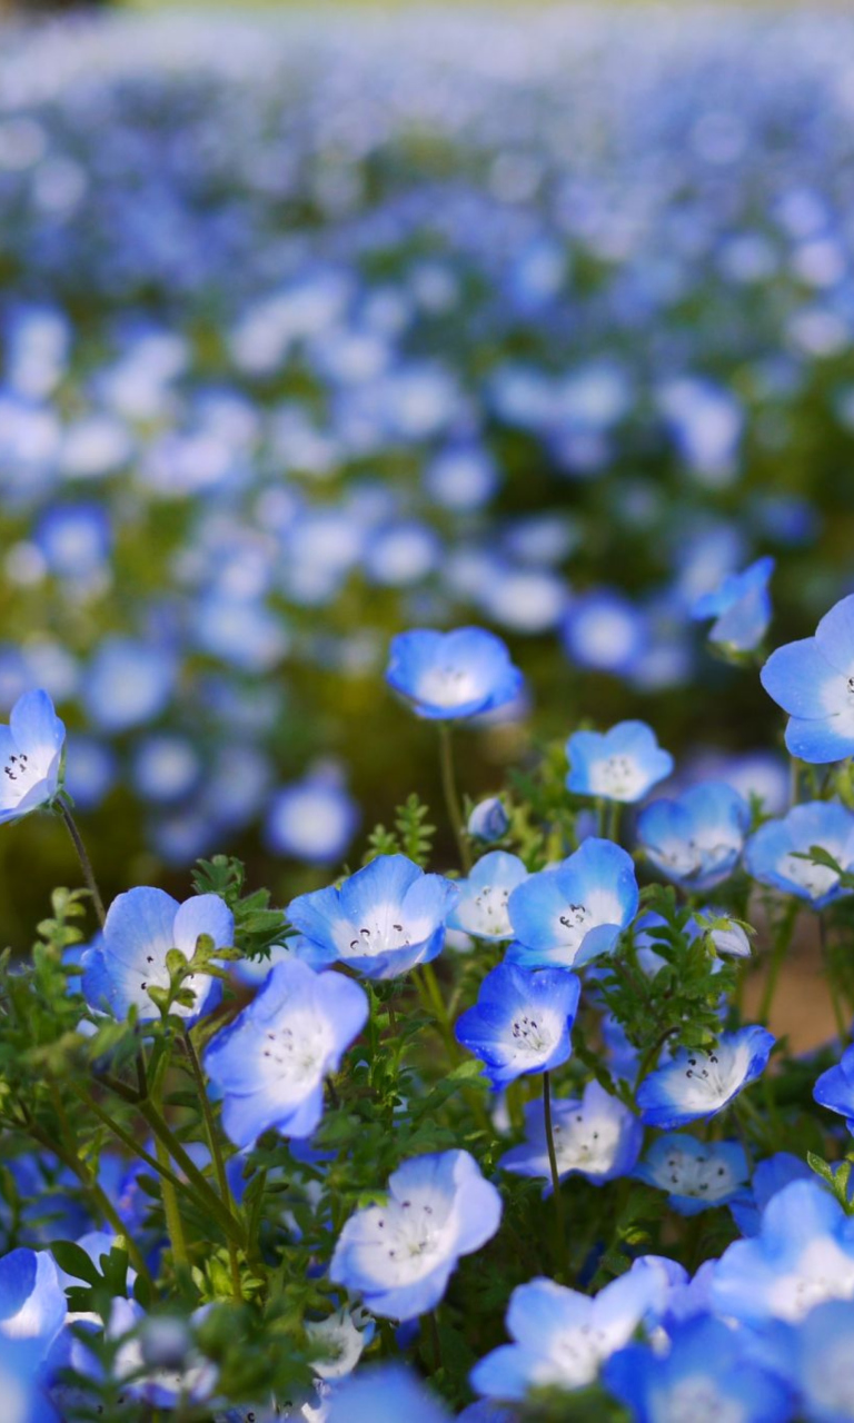
[[[434,795],[416,625],[528,676],[473,795],[632,714],[779,808],[690,609],[773,554],[776,645],[853,585],[854,17],[6,9],[0,712],[56,697],[107,894],[285,896]],[[4,831],[3,938],[71,874]]]

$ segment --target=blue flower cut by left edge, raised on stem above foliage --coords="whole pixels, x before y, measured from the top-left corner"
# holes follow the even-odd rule
[[[24,692],[0,726],[0,825],[47,805],[60,788],[65,727],[47,692]]]

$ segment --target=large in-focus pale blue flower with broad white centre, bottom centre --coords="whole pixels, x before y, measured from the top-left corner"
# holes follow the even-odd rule
[[[461,1255],[485,1245],[501,1222],[501,1197],[468,1151],[404,1161],[384,1205],[344,1225],[330,1279],[360,1295],[371,1315],[407,1321],[443,1298]]]

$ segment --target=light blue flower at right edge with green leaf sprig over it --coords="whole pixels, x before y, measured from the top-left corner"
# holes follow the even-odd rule
[[[783,820],[767,820],[747,841],[744,864],[763,885],[806,899],[814,909],[838,899],[840,877],[808,858],[820,845],[843,869],[854,865],[854,815],[835,801],[793,805]],[[801,855],[807,858],[800,858]]]

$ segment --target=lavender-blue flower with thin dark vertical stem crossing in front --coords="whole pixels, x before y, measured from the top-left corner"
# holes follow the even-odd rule
[[[592,1185],[628,1175],[643,1141],[643,1127],[633,1111],[594,1079],[578,1099],[552,1099],[552,1133],[558,1177],[578,1173]],[[545,1109],[542,1099],[525,1103],[525,1140],[507,1151],[498,1165],[514,1175],[551,1181]],[[547,1187],[551,1190],[551,1185]]]

